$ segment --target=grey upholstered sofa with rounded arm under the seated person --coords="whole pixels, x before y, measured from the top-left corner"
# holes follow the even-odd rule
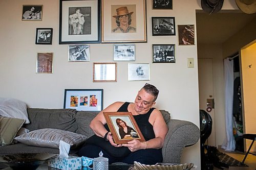
[[[28,108],[30,124],[24,124],[24,128],[30,131],[44,128],[61,129],[87,137],[94,133],[89,124],[98,112],[77,111],[75,109],[39,109]],[[170,119],[165,110],[160,110],[168,125],[168,133],[162,149],[163,162],[180,163],[182,149],[195,144],[200,137],[199,128],[184,120]],[[71,149],[70,154],[75,154],[79,148]],[[23,143],[1,146],[0,155],[18,153],[59,153],[58,149],[33,147]]]

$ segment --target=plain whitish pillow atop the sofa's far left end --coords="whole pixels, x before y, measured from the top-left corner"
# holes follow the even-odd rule
[[[25,119],[25,124],[29,124],[26,103],[12,98],[0,98],[0,115]]]

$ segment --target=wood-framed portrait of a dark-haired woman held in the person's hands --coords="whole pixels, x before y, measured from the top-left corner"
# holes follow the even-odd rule
[[[145,141],[131,112],[103,112],[103,115],[116,144],[127,143],[133,139]]]

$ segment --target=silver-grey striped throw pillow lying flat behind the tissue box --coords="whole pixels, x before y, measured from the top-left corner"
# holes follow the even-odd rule
[[[88,137],[60,129],[38,129],[29,133],[15,137],[17,141],[36,147],[59,148],[59,141],[63,140],[70,144],[71,148],[76,148]]]

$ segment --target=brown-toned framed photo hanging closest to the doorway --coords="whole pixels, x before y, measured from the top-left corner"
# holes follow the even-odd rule
[[[179,45],[195,45],[195,26],[178,25]]]

